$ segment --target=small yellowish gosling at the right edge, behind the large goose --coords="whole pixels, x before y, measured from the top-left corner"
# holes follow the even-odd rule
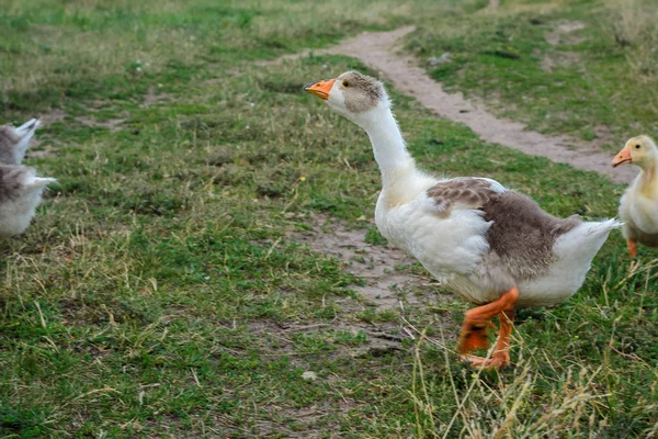
[[[637,243],[658,247],[658,148],[648,136],[637,136],[626,142],[614,157],[612,166],[631,164],[639,167],[639,175],[626,189],[620,201],[622,233],[631,258],[637,256]]]

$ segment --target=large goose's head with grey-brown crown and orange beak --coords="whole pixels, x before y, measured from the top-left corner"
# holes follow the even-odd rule
[[[377,110],[390,108],[384,85],[359,71],[345,71],[334,79],[307,83],[304,91],[325,100],[333,111],[362,127],[371,123]]]

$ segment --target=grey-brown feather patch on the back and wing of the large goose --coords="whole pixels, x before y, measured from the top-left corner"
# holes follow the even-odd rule
[[[486,180],[449,180],[430,188],[427,193],[442,207],[441,217],[450,216],[455,205],[484,212],[484,218],[492,222],[487,233],[489,252],[496,254],[485,258],[485,263],[496,261],[496,267],[489,267],[487,271],[500,271],[502,266],[517,282],[545,272],[555,259],[555,240],[580,224],[577,216],[559,219],[547,214],[533,200],[518,192],[496,192]]]

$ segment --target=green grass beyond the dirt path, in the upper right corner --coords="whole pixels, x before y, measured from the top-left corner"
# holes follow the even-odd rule
[[[654,2],[501,3],[450,25],[421,21],[407,47],[423,60],[451,53],[451,63],[427,64],[434,79],[531,130],[567,133],[613,154],[632,136],[658,135]],[[581,29],[560,31],[565,23]]]

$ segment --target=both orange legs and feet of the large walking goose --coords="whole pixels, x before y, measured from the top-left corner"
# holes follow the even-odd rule
[[[463,360],[483,368],[500,368],[510,362],[508,350],[512,334],[513,309],[518,300],[519,290],[514,286],[502,293],[499,300],[466,313],[458,348]],[[467,356],[476,348],[489,347],[486,328],[492,326],[490,319],[496,315],[500,318],[500,330],[491,359]]]

